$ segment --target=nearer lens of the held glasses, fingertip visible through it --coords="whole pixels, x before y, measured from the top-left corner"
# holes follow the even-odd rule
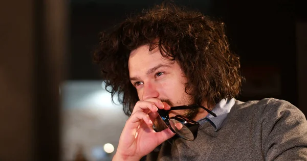
[[[178,121],[176,119],[170,119],[169,125],[182,138],[184,138],[188,141],[194,140],[194,136],[193,136],[193,133],[191,132],[191,130],[188,127],[186,127],[184,124],[182,124],[180,121]]]

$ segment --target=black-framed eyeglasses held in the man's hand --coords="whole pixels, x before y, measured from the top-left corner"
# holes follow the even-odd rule
[[[206,110],[212,116],[216,117],[216,115],[212,111],[198,104],[173,106],[170,110],[163,110],[163,109],[158,110],[158,113],[161,119],[164,121],[164,123],[174,133],[176,133],[178,136],[180,136],[181,138],[187,141],[193,141],[197,137],[198,128],[200,124],[194,120],[190,120],[181,115],[169,117],[168,113],[173,110],[189,110],[189,109],[196,109],[196,108],[202,108]]]

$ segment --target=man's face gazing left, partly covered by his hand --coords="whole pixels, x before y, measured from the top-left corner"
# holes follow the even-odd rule
[[[192,103],[191,96],[185,92],[187,79],[178,62],[163,57],[158,47],[149,51],[149,46],[143,45],[131,51],[128,68],[130,82],[137,89],[140,100],[158,98],[170,106]],[[177,110],[169,115],[188,116],[189,113]]]

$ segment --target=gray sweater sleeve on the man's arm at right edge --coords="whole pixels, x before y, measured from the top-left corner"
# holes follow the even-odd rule
[[[265,160],[307,160],[307,121],[298,108],[271,99],[261,125]]]

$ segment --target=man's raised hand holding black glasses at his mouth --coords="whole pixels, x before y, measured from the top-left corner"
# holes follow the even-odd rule
[[[158,145],[173,137],[169,128],[156,132],[152,122],[158,117],[158,108],[169,110],[170,106],[157,98],[138,101],[126,121],[113,160],[140,160]]]

